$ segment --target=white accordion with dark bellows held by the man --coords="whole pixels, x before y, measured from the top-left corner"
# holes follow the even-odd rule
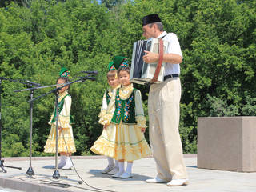
[[[141,85],[163,82],[166,63],[162,62],[162,67],[158,74],[158,79],[156,81],[152,81],[158,66],[158,62],[146,63],[142,59],[143,55],[146,54],[144,50],[159,54],[159,41],[159,38],[150,38],[146,41],[139,40],[138,42],[134,42],[133,56],[130,68],[130,82],[138,83]],[[168,49],[169,42],[164,40],[162,40],[162,42],[163,54],[165,54]]]

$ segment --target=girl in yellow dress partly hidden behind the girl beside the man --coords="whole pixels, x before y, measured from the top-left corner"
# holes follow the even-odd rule
[[[102,170],[102,174],[116,174],[118,172],[118,161],[112,158],[114,156],[114,142],[116,129],[114,125],[110,126],[111,119],[114,114],[114,102],[117,89],[120,87],[118,80],[118,70],[116,66],[120,66],[125,57],[115,56],[113,61],[109,63],[109,72],[107,73],[107,82],[110,89],[106,90],[102,99],[101,113],[99,114],[99,123],[103,125],[101,136],[94,142],[94,146],[90,148],[95,154],[106,155],[108,166]]]

